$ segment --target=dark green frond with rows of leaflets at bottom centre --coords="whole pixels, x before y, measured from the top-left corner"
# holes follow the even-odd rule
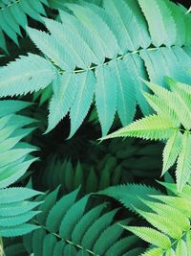
[[[123,229],[115,221],[118,209],[109,210],[106,203],[90,208],[90,195],[79,198],[78,192],[79,189],[63,196],[56,203],[58,190],[45,198],[44,204],[39,207],[39,210],[44,208],[44,211],[35,221],[39,229],[24,238],[29,253],[44,254],[49,247],[52,255],[57,255],[58,251],[73,251],[75,255],[87,256],[111,255],[117,251],[118,255],[122,255],[137,242],[133,236],[121,237]],[[119,222],[124,224],[129,221]],[[37,243],[40,238],[43,243]]]

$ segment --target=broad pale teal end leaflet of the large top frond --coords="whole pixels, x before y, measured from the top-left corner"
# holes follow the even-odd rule
[[[0,96],[26,94],[45,88],[53,80],[52,64],[29,54],[0,69]]]

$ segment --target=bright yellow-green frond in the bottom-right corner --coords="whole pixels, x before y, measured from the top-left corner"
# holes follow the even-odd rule
[[[168,185],[168,184],[167,184]],[[153,227],[124,226],[123,227],[142,240],[153,246],[142,256],[156,255],[189,255],[190,252],[190,208],[188,209],[191,193],[187,185],[187,198],[180,196],[150,196],[159,201],[140,200],[149,207],[146,211],[135,208],[138,214],[148,221]],[[184,207],[185,205],[185,207]],[[158,230],[156,230],[158,229]]]

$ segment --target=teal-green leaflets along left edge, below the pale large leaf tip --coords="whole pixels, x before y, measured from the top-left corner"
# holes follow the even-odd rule
[[[36,160],[30,154],[36,148],[21,142],[33,130],[26,126],[32,125],[35,120],[15,114],[29,103],[8,100],[0,105],[0,236],[21,236],[37,228],[28,221],[39,213],[34,208],[41,202],[32,202],[30,198],[40,192],[9,186],[24,175]]]

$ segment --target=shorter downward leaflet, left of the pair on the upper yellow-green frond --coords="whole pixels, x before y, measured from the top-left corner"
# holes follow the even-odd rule
[[[164,175],[168,169],[176,162],[177,157],[181,151],[181,133],[175,130],[171,138],[168,139],[163,150],[163,166],[162,173]]]

